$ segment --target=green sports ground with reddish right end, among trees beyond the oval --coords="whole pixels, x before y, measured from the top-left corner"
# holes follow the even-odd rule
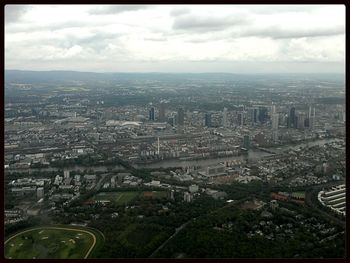
[[[101,192],[92,199],[95,201],[110,201],[116,205],[130,204],[138,197],[144,196],[145,192],[128,191],[128,192]],[[152,191],[152,198],[164,198],[167,196],[165,191]]]

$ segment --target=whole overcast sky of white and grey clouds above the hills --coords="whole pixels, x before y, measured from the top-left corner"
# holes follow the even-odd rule
[[[6,5],[5,68],[344,73],[343,5]]]

